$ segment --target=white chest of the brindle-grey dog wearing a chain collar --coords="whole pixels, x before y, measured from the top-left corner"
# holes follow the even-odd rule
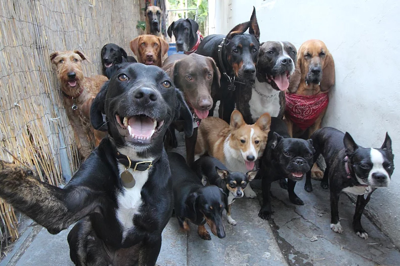
[[[277,117],[279,115],[281,109],[279,93],[280,92],[274,90],[268,82],[259,82],[256,78],[254,87],[252,88],[252,98],[249,102],[253,122],[256,122],[264,113],[269,113],[271,117]]]

